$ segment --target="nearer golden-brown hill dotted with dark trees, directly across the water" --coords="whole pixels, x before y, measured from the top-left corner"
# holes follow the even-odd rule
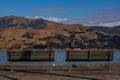
[[[120,35],[110,35],[90,28],[75,26],[61,30],[9,28],[0,32],[0,42],[0,49],[44,49],[48,47],[84,49],[86,45],[89,48],[120,49]]]

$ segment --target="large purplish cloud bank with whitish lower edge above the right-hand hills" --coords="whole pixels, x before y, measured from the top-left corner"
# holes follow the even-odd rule
[[[120,25],[120,8],[88,12],[83,18],[75,17],[63,21],[63,23],[83,24],[88,26],[117,26]]]

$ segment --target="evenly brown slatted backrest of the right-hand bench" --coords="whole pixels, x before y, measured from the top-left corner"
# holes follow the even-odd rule
[[[66,61],[110,61],[113,50],[66,50]]]

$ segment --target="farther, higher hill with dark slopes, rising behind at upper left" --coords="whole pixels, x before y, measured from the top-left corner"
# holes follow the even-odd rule
[[[0,17],[0,29],[6,29],[9,27],[23,27],[34,29],[46,29],[51,26],[62,25],[52,21],[47,21],[42,18],[25,18],[21,16],[5,16]]]

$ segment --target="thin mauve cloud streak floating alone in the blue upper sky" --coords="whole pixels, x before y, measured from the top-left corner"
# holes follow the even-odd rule
[[[54,14],[54,13],[64,13],[64,12],[69,12],[69,11],[74,11],[74,10],[79,10],[82,7],[49,7],[49,8],[38,8],[32,10],[32,12],[37,13],[37,14]]]

